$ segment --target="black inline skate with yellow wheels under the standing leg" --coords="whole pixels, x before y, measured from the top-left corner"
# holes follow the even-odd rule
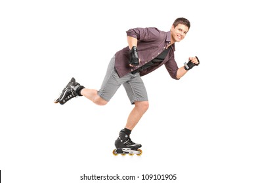
[[[136,144],[131,141],[129,135],[124,133],[123,130],[120,131],[115,146],[116,149],[113,150],[114,156],[117,156],[118,154],[121,154],[122,156],[125,156],[126,154],[129,154],[130,156],[137,154],[137,156],[140,156],[142,154],[142,150],[139,149],[141,144]]]

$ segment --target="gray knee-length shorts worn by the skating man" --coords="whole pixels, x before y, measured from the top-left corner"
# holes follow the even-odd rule
[[[131,101],[134,104],[135,101],[148,101],[148,95],[146,93],[146,88],[142,79],[140,78],[140,73],[127,75],[119,78],[116,68],[115,68],[115,56],[110,60],[106,76],[102,82],[102,86],[98,91],[98,95],[106,101],[114,96],[117,89],[123,85],[125,91]]]

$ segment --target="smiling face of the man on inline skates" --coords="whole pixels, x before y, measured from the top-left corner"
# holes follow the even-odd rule
[[[188,33],[188,27],[183,24],[178,24],[176,27],[171,27],[171,39],[173,42],[180,42]]]

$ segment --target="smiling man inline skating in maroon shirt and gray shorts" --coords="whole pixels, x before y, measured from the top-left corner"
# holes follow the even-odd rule
[[[135,105],[128,116],[125,128],[119,132],[115,142],[114,154],[141,154],[140,144],[131,141],[130,134],[140,118],[148,109],[148,96],[141,76],[165,65],[169,75],[179,80],[188,70],[199,65],[197,57],[190,57],[188,63],[178,68],[174,58],[175,42],[186,37],[190,22],[186,18],[177,18],[168,32],[157,28],[135,28],[127,31],[128,46],[111,59],[100,90],[81,86],[72,78],[55,103],[77,96],[84,96],[96,105],[106,105],[123,85],[131,104]]]

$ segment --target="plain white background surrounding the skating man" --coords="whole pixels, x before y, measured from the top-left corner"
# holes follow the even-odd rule
[[[139,176],[125,182],[145,174],[255,182],[255,16],[246,0],[1,1],[1,180],[97,182],[79,179],[118,173]],[[198,56],[200,66],[181,80],[165,67],[142,78],[150,108],[131,139],[143,154],[115,157],[133,108],[122,87],[104,107],[53,100],[72,76],[98,90],[129,28],[169,31],[178,17],[191,27],[176,44],[177,63]]]

